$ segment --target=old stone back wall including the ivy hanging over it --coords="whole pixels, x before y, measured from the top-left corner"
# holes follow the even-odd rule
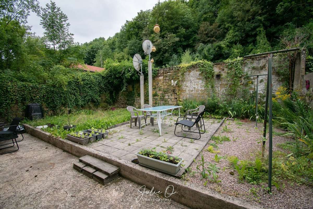
[[[256,76],[267,74],[267,57],[226,60],[211,63],[197,61],[185,65],[159,69],[153,79],[153,105],[176,105],[186,98],[206,100],[218,97],[223,100],[232,97],[245,98],[256,90]],[[273,92],[284,85],[288,77],[288,60],[286,56],[273,58]],[[220,77],[217,77],[217,76]],[[172,85],[172,80],[177,85]],[[259,76],[259,97],[265,98],[267,76]],[[147,82],[145,81],[145,86]],[[148,103],[148,89],[145,88],[145,103]],[[140,106],[139,84],[136,85],[135,107]]]

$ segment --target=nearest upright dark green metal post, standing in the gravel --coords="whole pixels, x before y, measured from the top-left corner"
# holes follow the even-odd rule
[[[269,54],[269,192],[272,191],[272,57]]]

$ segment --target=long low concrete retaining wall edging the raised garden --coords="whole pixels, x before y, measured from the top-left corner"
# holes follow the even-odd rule
[[[182,180],[179,180],[172,176],[147,169],[140,165],[133,164],[127,160],[123,160],[120,158],[116,159],[109,154],[105,154],[89,147],[76,144],[67,139],[63,140],[61,138],[55,138],[51,136],[50,133],[46,133],[38,128],[33,128],[27,124],[24,125],[27,133],[60,149],[63,149],[70,154],[73,154],[77,157],[90,155],[119,167],[121,169],[119,173],[121,176],[133,182],[136,182],[137,184],[146,185],[146,188],[148,189],[152,189],[152,187],[154,187],[156,191],[162,191],[162,194],[164,194],[167,186],[173,185],[174,191],[176,191],[176,193],[170,196],[170,198],[190,208],[260,208],[257,205],[244,202],[236,197],[223,195],[215,191],[203,190],[201,188],[197,188],[196,185],[192,185],[189,183],[185,184]]]

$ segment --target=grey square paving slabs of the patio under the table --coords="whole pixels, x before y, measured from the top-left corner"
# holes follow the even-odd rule
[[[184,158],[184,167],[177,174],[181,175],[208,143],[222,121],[217,119],[205,119],[204,125],[206,132],[201,134],[200,139],[193,140],[184,137],[191,136],[197,138],[198,135],[196,133],[183,132],[181,126],[177,126],[176,134],[178,136],[175,136],[174,129],[176,120],[177,117],[167,117],[164,119],[161,125],[162,136],[159,134],[156,121],[154,122],[154,126],[148,124],[147,126],[143,126],[141,130],[138,126],[130,128],[130,124],[126,124],[108,129],[108,138],[87,144],[87,146],[128,161],[137,158],[135,153],[141,149],[155,148],[156,151],[160,152],[167,150],[167,148],[171,146],[173,149],[172,155]],[[198,128],[196,127],[191,129],[191,131],[197,130]]]

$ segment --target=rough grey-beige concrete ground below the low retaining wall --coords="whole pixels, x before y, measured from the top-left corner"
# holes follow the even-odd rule
[[[156,194],[145,194],[136,202],[142,194],[138,191],[141,185],[122,177],[101,185],[73,169],[77,157],[31,135],[24,136],[17,152],[0,155],[0,208],[187,209]]]

